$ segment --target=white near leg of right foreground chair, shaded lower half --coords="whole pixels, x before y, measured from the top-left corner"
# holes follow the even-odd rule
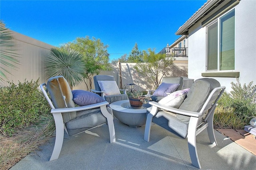
[[[190,117],[188,125],[188,150],[192,165],[201,168],[196,149],[196,126],[198,117]]]

